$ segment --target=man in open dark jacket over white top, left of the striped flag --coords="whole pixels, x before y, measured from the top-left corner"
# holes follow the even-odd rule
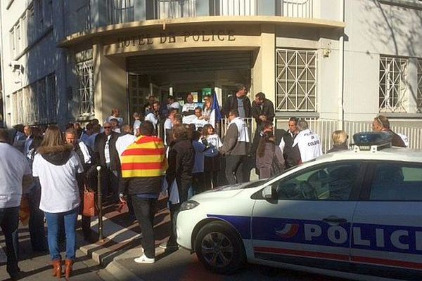
[[[101,188],[104,195],[113,194],[113,201],[119,200],[120,159],[116,150],[118,133],[112,131],[111,124],[103,125],[104,132],[95,138],[94,154],[101,165]]]

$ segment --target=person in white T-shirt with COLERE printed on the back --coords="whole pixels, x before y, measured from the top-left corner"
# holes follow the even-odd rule
[[[298,136],[293,140],[293,148],[298,145],[300,162],[307,162],[322,155],[319,136],[308,128],[306,120],[298,121]]]

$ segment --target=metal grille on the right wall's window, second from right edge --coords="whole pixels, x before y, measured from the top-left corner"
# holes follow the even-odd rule
[[[380,112],[406,112],[407,58],[381,57],[379,80]]]

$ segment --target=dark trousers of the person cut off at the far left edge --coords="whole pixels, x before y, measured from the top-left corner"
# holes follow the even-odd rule
[[[19,225],[19,209],[20,207],[0,208],[0,227],[6,240],[6,270],[11,276],[20,271],[16,257],[18,249],[15,248],[15,241],[13,241],[13,233],[18,229]]]

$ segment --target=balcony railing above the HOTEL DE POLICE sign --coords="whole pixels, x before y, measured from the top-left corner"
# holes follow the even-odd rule
[[[279,15],[314,18],[314,4],[321,0],[151,0],[136,6],[135,0],[106,0],[109,24],[131,22],[140,15],[149,20],[198,16]],[[316,3],[317,2],[317,3]],[[139,15],[139,17],[137,16]]]

